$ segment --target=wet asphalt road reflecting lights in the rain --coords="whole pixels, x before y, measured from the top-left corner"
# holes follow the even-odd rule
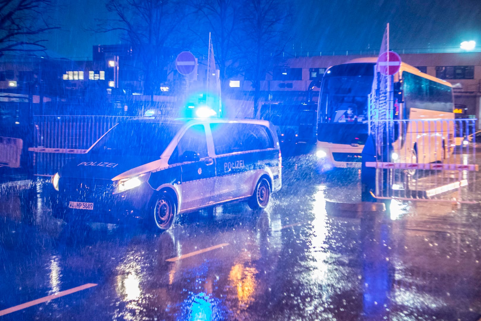
[[[358,198],[359,173],[317,175],[298,157],[285,160],[283,188],[266,210],[218,206],[214,218],[186,214],[155,234],[65,225],[50,216],[46,184],[0,190],[0,310],[92,284],[0,320],[481,316],[479,205],[327,212],[327,199]]]

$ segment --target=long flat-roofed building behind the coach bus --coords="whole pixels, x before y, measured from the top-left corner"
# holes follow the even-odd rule
[[[481,119],[481,52],[409,53],[401,60],[420,71],[453,85],[456,112],[459,116]],[[343,64],[366,55],[292,57],[267,72],[261,83],[263,103],[295,103],[317,101],[316,85],[329,66]],[[240,79],[246,97],[252,94],[252,84]],[[231,88],[231,91],[235,90]],[[481,123],[478,121],[478,128]]]

